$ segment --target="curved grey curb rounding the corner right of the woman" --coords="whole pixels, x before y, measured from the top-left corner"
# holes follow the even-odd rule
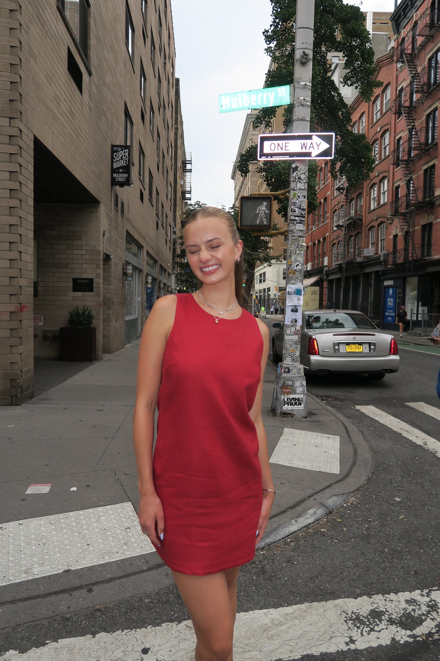
[[[373,457],[371,450],[365,438],[363,438],[360,430],[350,420],[347,420],[343,415],[335,411],[333,408],[327,406],[321,400],[313,395],[307,393],[307,397],[313,399],[315,403],[325,408],[344,426],[347,436],[354,449],[354,457],[352,465],[348,469],[346,475],[333,485],[327,486],[321,492],[317,492],[305,502],[299,503],[290,512],[286,512],[284,516],[280,517],[282,521],[271,529],[257,545],[258,549],[264,549],[269,545],[285,539],[294,533],[317,523],[322,518],[333,512],[340,507],[344,502],[349,500],[353,494],[361,488],[371,475],[373,468]],[[341,492],[341,487],[343,491]],[[308,508],[310,502],[315,501],[313,508]],[[297,516],[292,518],[292,513],[296,512]],[[277,517],[278,518],[278,517]],[[270,519],[269,519],[270,521]]]

